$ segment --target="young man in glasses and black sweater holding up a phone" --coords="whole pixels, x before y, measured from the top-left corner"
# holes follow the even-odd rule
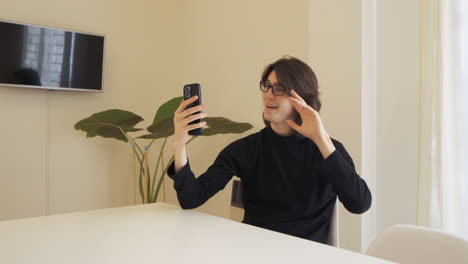
[[[189,125],[206,117],[203,105],[174,116],[175,161],[169,169],[182,208],[196,208],[238,176],[243,185],[244,223],[326,243],[336,197],[352,213],[370,208],[367,184],[356,173],[343,145],[331,139],[318,111],[318,83],[304,62],[285,57],[262,74],[261,131],[227,146],[213,165],[196,178],[185,151]]]

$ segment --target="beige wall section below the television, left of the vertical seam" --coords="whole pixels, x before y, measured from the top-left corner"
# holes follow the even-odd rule
[[[45,116],[41,91],[0,90],[0,220],[45,214]]]

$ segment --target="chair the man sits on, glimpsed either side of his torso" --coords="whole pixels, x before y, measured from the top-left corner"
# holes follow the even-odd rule
[[[242,218],[244,216],[243,209],[244,205],[242,204],[242,184],[240,180],[235,179],[232,183],[231,219],[239,222],[242,221]],[[338,199],[336,199],[327,241],[327,244],[330,246],[340,246],[338,223]]]

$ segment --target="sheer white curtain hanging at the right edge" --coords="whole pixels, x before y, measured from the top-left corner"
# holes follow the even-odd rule
[[[468,239],[468,5],[422,0],[418,224]]]

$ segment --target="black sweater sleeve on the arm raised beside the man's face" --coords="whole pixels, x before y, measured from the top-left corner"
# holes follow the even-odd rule
[[[357,174],[353,160],[343,145],[334,140],[336,150],[323,161],[323,177],[344,207],[351,213],[361,214],[372,203],[372,195],[366,182]]]

